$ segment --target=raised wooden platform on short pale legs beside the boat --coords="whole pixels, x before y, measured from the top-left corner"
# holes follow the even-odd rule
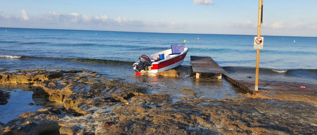
[[[222,74],[227,73],[210,56],[191,56],[191,68],[196,73],[196,78],[202,73],[215,73],[221,79]]]

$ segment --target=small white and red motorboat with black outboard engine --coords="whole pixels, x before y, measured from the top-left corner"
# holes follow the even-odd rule
[[[173,44],[171,49],[155,53],[150,57],[146,55],[140,56],[140,61],[133,64],[133,70],[135,72],[159,73],[175,68],[183,63],[188,51],[185,44]]]

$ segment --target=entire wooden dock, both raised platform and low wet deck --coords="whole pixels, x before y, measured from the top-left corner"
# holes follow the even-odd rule
[[[246,92],[255,94],[255,69],[243,70],[227,69],[225,71],[209,56],[191,56],[191,67],[196,78],[202,73],[218,74],[218,79],[224,78],[242,88]],[[305,88],[301,88],[304,86]],[[259,91],[287,94],[305,94],[317,96],[317,80],[304,78],[288,73],[259,72]]]

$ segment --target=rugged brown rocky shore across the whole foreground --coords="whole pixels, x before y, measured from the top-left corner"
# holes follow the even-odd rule
[[[169,72],[176,75],[163,76],[178,77]],[[44,109],[0,122],[0,135],[317,134],[316,97],[263,93],[175,103],[149,88],[80,70],[0,73],[0,84],[29,84],[33,98],[47,100]],[[0,90],[0,104],[8,99]]]

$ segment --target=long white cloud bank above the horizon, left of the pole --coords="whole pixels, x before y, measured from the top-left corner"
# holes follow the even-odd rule
[[[25,21],[29,21],[25,23]],[[0,11],[0,25],[7,27],[25,28],[55,28],[55,29],[94,29],[112,31],[144,31],[164,32],[163,30],[185,28],[178,22],[165,20],[138,20],[134,18],[109,18],[107,15],[88,15],[80,13],[64,14],[56,11],[34,15],[29,18],[27,12],[22,10],[22,17],[7,15]]]

